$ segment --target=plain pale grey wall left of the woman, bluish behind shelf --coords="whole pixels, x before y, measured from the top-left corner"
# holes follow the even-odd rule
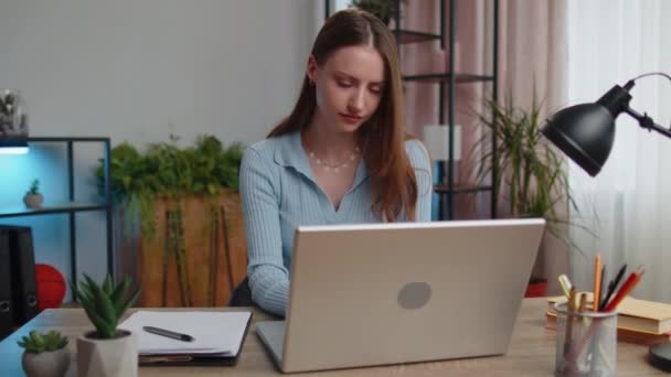
[[[20,88],[31,136],[102,136],[113,146],[225,143],[262,139],[292,105],[321,24],[315,0],[2,0],[0,88]],[[100,147],[79,147],[77,196],[95,196],[90,168]],[[47,157],[56,162],[47,162]],[[20,204],[30,180],[47,202],[66,195],[63,150],[0,155],[0,211]],[[52,165],[54,168],[52,168]],[[50,166],[50,168],[45,168]],[[33,225],[38,261],[68,277],[66,216]],[[104,216],[77,215],[78,267],[105,269]]]

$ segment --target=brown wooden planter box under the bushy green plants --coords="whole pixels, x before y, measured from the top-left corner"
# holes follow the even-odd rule
[[[182,231],[170,219],[181,208]],[[211,211],[220,220],[214,220]],[[153,204],[156,234],[117,225],[119,276],[131,274],[142,288],[141,306],[225,306],[231,292],[247,273],[247,247],[239,195],[232,191],[216,197],[183,196]],[[119,214],[121,223],[123,214]],[[223,219],[223,220],[221,220]],[[174,224],[174,223],[173,223]],[[134,234],[136,235],[134,237]],[[175,234],[183,239],[183,269],[178,271],[177,249],[168,247]],[[181,279],[180,279],[181,276]],[[180,283],[181,281],[181,283]]]

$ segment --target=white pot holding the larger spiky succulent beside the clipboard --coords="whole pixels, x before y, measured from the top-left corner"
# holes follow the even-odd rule
[[[138,342],[135,334],[119,331],[114,340],[92,337],[89,332],[77,338],[79,377],[137,377]]]

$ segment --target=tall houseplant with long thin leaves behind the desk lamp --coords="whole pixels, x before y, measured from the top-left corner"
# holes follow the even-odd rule
[[[511,98],[509,95],[504,104],[487,100],[484,111],[477,115],[479,123],[489,131],[476,142],[481,158],[478,176],[482,180],[496,170],[494,195],[499,203],[508,204],[510,215],[544,217],[546,231],[569,249],[575,249],[565,228],[576,224],[568,222],[564,208],[578,208],[562,155],[542,137],[542,106],[535,99],[535,93],[528,109],[515,106]],[[496,137],[496,152],[491,147],[491,136]],[[537,263],[539,259],[530,283],[539,282],[546,287],[546,280],[536,273]]]

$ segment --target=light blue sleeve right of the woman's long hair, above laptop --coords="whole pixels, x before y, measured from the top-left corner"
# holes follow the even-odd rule
[[[406,150],[417,180],[416,222],[430,222],[434,193],[432,161],[426,148],[417,139],[406,141]]]

